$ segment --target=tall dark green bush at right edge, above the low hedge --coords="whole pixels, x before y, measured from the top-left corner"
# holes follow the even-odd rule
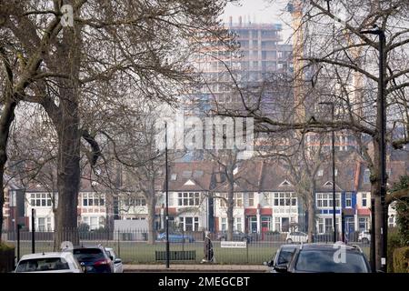
[[[399,182],[394,183],[391,190],[398,191],[409,187],[409,176],[401,176]],[[399,228],[399,235],[402,246],[409,246],[409,197],[404,197],[395,202],[396,225]]]

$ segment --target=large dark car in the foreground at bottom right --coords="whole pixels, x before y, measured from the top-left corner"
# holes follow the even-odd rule
[[[344,261],[342,253],[335,254],[335,252],[340,251],[345,252]],[[280,271],[290,273],[370,273],[371,268],[364,253],[357,246],[302,244],[295,249],[294,256],[288,266],[280,266]]]

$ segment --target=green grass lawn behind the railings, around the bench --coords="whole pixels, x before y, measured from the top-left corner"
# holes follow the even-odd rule
[[[116,253],[122,258],[125,264],[163,264],[163,261],[155,262],[155,251],[165,251],[165,243],[156,243],[148,245],[145,242],[125,242],[103,241],[87,242],[86,245],[96,244],[114,247]],[[264,261],[269,260],[281,245],[276,242],[255,242],[248,245],[248,248],[222,248],[220,242],[214,242],[214,257],[217,264],[252,264],[261,265]],[[22,241],[20,244],[20,256],[31,253],[31,242]],[[180,261],[181,264],[197,264],[203,258],[203,242],[195,243],[171,243],[170,251],[195,251],[195,260]],[[362,246],[364,254],[369,258],[369,246]],[[53,242],[37,241],[35,243],[35,252],[53,251]],[[173,261],[177,263],[177,261]]]

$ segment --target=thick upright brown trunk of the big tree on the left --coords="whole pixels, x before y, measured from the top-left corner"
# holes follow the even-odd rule
[[[63,41],[58,46],[55,59],[58,68],[70,79],[59,79],[59,112],[52,113],[58,134],[58,203],[56,216],[55,248],[63,241],[79,245],[77,206],[80,186],[80,117],[79,117],[79,67],[80,36],[79,27],[65,29]]]

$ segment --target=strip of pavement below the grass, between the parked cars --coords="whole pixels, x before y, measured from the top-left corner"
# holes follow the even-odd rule
[[[125,273],[138,273],[138,272],[225,272],[225,273],[266,273],[268,272],[268,266],[263,265],[217,265],[217,264],[170,264],[169,268],[166,268],[165,265],[152,264],[152,265],[125,265]]]

